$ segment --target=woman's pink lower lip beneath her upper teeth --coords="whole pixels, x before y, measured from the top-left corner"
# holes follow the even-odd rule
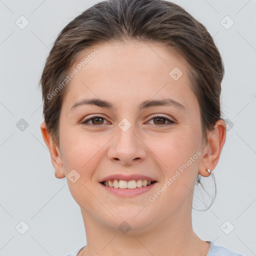
[[[148,185],[148,186],[142,186],[142,187],[136,187],[136,188],[114,188],[110,186],[103,185],[99,183],[103,188],[105,188],[107,191],[116,194],[118,196],[127,197],[127,196],[135,196],[138,194],[142,194],[144,192],[149,191],[156,182]]]

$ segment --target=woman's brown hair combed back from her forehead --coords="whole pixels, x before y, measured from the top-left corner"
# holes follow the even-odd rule
[[[169,1],[104,0],[83,11],[60,31],[46,59],[40,78],[43,115],[55,144],[59,146],[59,116],[68,83],[54,96],[51,93],[66,78],[79,53],[97,44],[125,41],[163,43],[167,50],[187,61],[191,89],[200,107],[202,141],[207,143],[207,132],[222,119],[224,67],[205,26]]]

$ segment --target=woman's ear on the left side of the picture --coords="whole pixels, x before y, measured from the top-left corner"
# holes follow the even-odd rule
[[[48,147],[48,150],[50,152],[50,160],[51,163],[55,169],[55,177],[56,178],[62,178],[65,176],[63,164],[62,164],[62,157],[60,154],[60,151],[58,147],[53,143],[52,138],[46,128],[46,123],[43,121],[40,125],[40,129],[42,132],[43,140]]]

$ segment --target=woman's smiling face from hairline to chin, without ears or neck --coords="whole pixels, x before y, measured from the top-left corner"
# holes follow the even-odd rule
[[[187,63],[152,43],[95,48],[97,54],[68,83],[60,113],[59,151],[65,175],[75,176],[74,182],[67,178],[73,198],[83,216],[117,231],[124,220],[142,230],[184,216],[202,155],[200,111]],[[109,104],[72,107],[91,98]],[[169,103],[150,104],[164,99]],[[155,182],[110,188],[100,183],[114,179],[109,175]]]

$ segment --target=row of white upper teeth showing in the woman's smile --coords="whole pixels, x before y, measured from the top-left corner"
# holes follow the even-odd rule
[[[112,180],[106,180],[103,182],[104,185],[114,187],[114,188],[136,188],[136,187],[142,187],[147,186],[151,184],[151,180],[146,179],[132,179],[132,180],[118,180],[118,179],[112,179]]]

